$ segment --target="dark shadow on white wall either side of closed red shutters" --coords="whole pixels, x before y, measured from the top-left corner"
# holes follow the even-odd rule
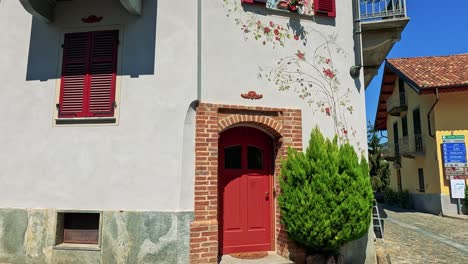
[[[1,0],[0,0],[1,1]],[[129,16],[122,22],[120,75],[138,77],[155,73],[157,2],[146,0],[141,16]],[[95,24],[81,24],[83,31],[95,30]],[[114,24],[112,24],[114,25]],[[98,24],[97,26],[110,25]],[[88,27],[89,29],[86,29]],[[106,28],[107,28],[106,27]],[[64,30],[57,23],[47,24],[33,17],[29,43],[26,81],[47,81],[59,76],[61,40]]]

